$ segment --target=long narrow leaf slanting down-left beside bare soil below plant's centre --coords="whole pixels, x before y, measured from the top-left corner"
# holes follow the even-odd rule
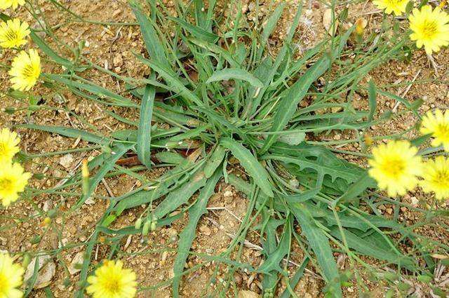
[[[189,250],[192,247],[192,243],[196,234],[196,225],[201,218],[201,215],[207,212],[206,206],[208,204],[210,196],[214,194],[215,185],[222,177],[220,170],[216,170],[213,177],[207,181],[206,186],[201,189],[198,200],[189,210],[189,223],[180,233],[180,242],[177,247],[177,255],[175,257],[175,264],[173,264],[173,297],[179,297],[179,286],[181,281],[181,274],[184,270],[184,265],[187,257],[189,256]]]

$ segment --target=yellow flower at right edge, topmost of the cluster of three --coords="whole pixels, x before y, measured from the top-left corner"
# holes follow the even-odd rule
[[[440,109],[436,109],[435,114],[428,111],[422,117],[420,132],[422,135],[431,134],[434,137],[432,146],[438,147],[442,144],[444,150],[449,151],[449,110],[444,114]]]

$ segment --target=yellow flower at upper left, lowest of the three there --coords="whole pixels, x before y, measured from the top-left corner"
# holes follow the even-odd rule
[[[37,50],[29,50],[29,55],[25,50],[14,58],[11,70],[8,72],[13,78],[13,88],[15,90],[27,91],[35,84],[41,74],[41,58]]]

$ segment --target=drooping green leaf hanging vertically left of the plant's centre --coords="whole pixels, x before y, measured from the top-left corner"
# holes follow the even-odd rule
[[[152,115],[155,95],[156,88],[154,88],[154,86],[147,85],[142,97],[142,104],[140,106],[138,142],[136,150],[138,152],[140,162],[147,168],[151,168],[152,166],[150,144],[152,140]]]

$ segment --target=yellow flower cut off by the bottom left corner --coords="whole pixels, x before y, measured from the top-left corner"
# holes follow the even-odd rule
[[[22,285],[24,270],[19,264],[13,264],[13,259],[4,253],[0,253],[0,298],[20,298],[22,291],[18,289]]]

